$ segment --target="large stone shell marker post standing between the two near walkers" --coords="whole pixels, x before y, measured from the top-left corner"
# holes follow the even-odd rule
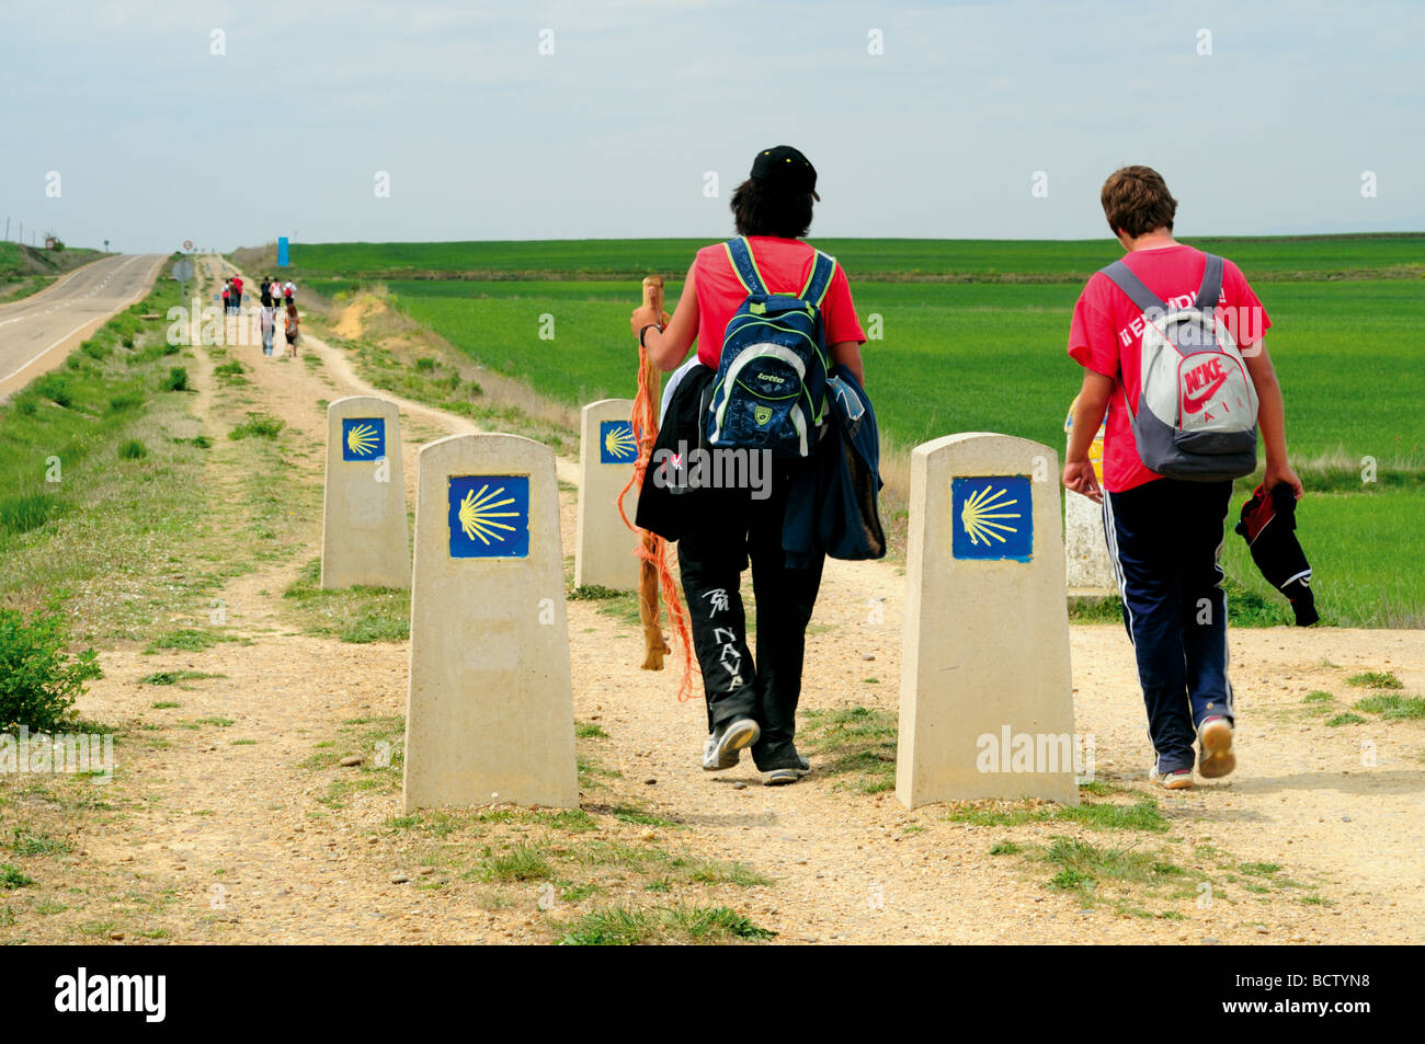
[[[911,454],[896,798],[1079,803],[1059,459],[966,433]]]

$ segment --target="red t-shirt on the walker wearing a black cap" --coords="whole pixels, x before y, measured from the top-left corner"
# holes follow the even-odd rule
[[[750,235],[747,244],[752,261],[761,272],[770,293],[799,291],[811,275],[817,251],[801,239],[779,239],[770,235]],[[722,244],[704,246],[693,262],[693,283],[698,293],[698,362],[717,369],[722,355],[722,338],[732,313],[747,301],[747,288],[732,271]],[[846,273],[836,265],[831,286],[821,302],[821,316],[826,328],[826,346],[842,340],[866,342],[851,301]],[[829,362],[829,360],[828,360]]]

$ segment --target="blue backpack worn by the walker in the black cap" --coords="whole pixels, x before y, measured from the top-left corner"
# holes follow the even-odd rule
[[[799,292],[772,293],[745,238],[724,244],[747,299],[727,323],[712,382],[707,440],[712,449],[809,457],[826,413],[826,330],[821,303],[836,259],[817,251]]]

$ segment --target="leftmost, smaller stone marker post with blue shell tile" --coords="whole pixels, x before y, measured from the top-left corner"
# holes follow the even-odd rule
[[[400,410],[353,395],[326,407],[322,588],[410,587]]]

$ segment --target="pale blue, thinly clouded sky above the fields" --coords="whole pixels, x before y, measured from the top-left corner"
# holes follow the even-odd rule
[[[1368,14],[1368,17],[1367,17]],[[731,234],[754,154],[812,238],[1425,231],[1425,3],[0,6],[0,219],[70,245]]]

